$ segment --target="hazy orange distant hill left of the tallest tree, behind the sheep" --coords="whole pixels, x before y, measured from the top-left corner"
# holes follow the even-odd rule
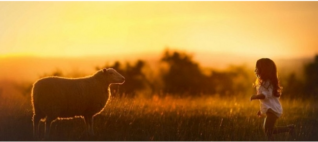
[[[158,58],[154,55],[143,55],[146,58]],[[96,67],[113,65],[115,61],[134,62],[141,55],[107,55],[86,57],[0,57],[0,80],[35,81],[53,71],[63,73],[93,74]]]

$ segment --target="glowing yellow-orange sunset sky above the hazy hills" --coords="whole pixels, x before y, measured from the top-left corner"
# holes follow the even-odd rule
[[[317,1],[0,1],[0,56],[313,57],[317,25]]]

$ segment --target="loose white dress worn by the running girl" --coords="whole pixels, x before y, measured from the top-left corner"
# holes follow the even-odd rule
[[[273,86],[269,84],[269,81],[257,87],[257,94],[265,95],[265,99],[259,99],[262,114],[266,114],[269,109],[271,109],[272,111],[270,112],[274,113],[278,118],[283,114],[279,97],[273,95]]]

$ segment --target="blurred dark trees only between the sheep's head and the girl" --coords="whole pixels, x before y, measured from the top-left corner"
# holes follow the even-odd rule
[[[114,65],[96,68],[113,68],[126,81],[122,85],[112,85],[113,94],[135,96],[145,90],[149,95],[238,95],[251,91],[252,78],[244,66],[231,66],[226,71],[203,71],[185,52],[166,50],[160,59],[162,66],[157,71],[147,68],[147,62],[138,60],[134,65],[115,62]],[[147,74],[148,72],[148,74]],[[149,72],[157,74],[149,77]]]

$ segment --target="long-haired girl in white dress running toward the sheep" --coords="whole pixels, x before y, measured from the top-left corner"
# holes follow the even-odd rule
[[[256,62],[255,67],[257,95],[252,95],[250,101],[259,99],[261,110],[257,112],[258,117],[266,114],[264,119],[263,130],[269,141],[273,141],[272,134],[289,132],[294,134],[294,124],[274,127],[274,124],[282,114],[283,108],[279,102],[282,88],[279,85],[277,77],[277,68],[275,63],[268,59],[262,58]]]

